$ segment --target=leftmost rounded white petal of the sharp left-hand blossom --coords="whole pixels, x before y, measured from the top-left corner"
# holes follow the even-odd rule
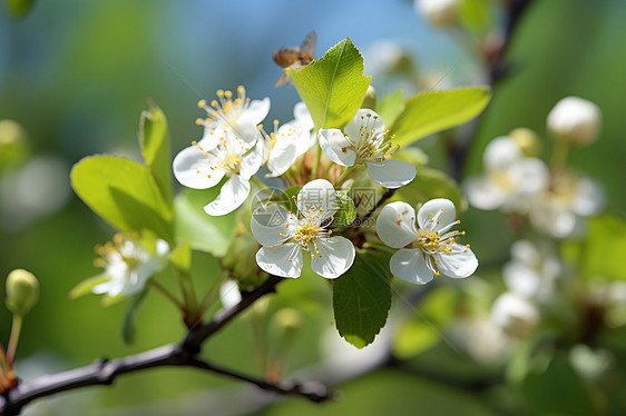
[[[193,189],[207,189],[216,186],[224,177],[224,170],[211,169],[214,156],[205,153],[198,146],[189,146],[174,158],[173,170],[176,179]]]

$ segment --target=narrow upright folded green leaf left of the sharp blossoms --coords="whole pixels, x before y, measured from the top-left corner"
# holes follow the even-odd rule
[[[172,204],[172,162],[167,120],[160,108],[151,102],[147,110],[141,111],[139,146],[165,200]]]

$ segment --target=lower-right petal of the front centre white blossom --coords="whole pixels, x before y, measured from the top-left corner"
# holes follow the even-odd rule
[[[345,237],[319,238],[319,252],[311,257],[311,268],[326,279],[335,279],[350,269],[354,263],[354,246]]]

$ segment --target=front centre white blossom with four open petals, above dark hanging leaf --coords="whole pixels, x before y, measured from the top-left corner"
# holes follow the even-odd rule
[[[334,279],[354,261],[354,246],[344,237],[331,237],[329,226],[336,212],[336,195],[331,182],[312,180],[297,194],[299,215],[277,204],[257,208],[251,221],[256,240],[263,247],[256,252],[258,267],[282,277],[302,273],[302,250],[311,254],[311,268],[317,275]]]

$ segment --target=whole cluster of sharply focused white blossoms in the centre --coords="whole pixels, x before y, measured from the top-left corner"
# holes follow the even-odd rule
[[[261,202],[251,208],[251,231],[261,245],[255,259],[262,270],[300,277],[305,254],[317,275],[334,279],[345,274],[354,263],[354,240],[359,240],[354,230],[339,229],[335,221],[350,198],[343,189],[346,178],[366,172],[364,180],[371,180],[372,187],[397,189],[417,175],[412,164],[392,158],[398,146],[382,118],[362,108],[342,129],[315,130],[306,106],[299,102],[294,120],[282,126],[274,121],[267,133],[262,121],[270,111],[268,98],[251,101],[243,87],[236,98],[222,90],[217,98],[211,105],[198,103],[207,112],[197,122],[204,126],[204,135],[174,159],[176,179],[194,189],[222,184],[219,196],[204,207],[211,216],[227,215],[244,205],[251,182],[260,188]],[[323,159],[323,169],[311,166],[315,158]],[[301,186],[297,195],[281,201],[275,190],[255,177],[262,171],[278,178],[284,189]],[[383,244],[400,249],[391,258],[391,273],[413,284],[427,284],[440,274],[473,274],[478,260],[469,245],[457,242],[464,234],[452,230],[458,222],[454,205],[447,199],[428,201],[417,216],[402,201],[385,206],[376,232]]]

